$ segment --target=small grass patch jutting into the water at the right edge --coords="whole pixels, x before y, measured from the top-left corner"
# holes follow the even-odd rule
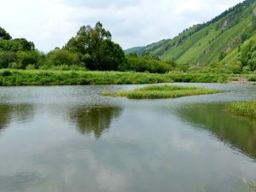
[[[230,112],[256,119],[256,102],[232,102]]]

